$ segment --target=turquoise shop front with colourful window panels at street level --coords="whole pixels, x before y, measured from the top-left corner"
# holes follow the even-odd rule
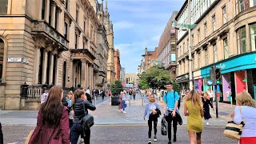
[[[204,90],[206,79],[210,79],[210,69],[214,65],[206,66],[201,69],[202,78],[204,79]],[[256,53],[240,54],[236,57],[229,58],[222,62],[215,63],[215,66],[222,70],[222,83],[217,86],[216,91],[221,94],[220,99],[224,102],[230,102],[235,99],[235,95],[247,90],[254,98],[254,72],[256,70]],[[250,78],[250,79],[248,79]]]

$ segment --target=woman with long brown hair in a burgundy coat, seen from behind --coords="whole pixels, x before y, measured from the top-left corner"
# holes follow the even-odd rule
[[[37,126],[29,144],[63,143],[70,144],[69,115],[62,105],[63,90],[60,86],[50,88],[46,102],[38,112]]]

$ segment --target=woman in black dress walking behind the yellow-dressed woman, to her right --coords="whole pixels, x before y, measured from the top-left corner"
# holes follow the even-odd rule
[[[209,125],[209,119],[211,118],[209,105],[214,110],[214,106],[208,99],[209,97],[210,97],[209,94],[207,92],[205,92],[205,94],[203,95],[203,98],[202,98],[203,117],[205,118],[206,125]]]

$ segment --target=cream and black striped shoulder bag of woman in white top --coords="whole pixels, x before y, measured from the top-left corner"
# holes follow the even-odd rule
[[[242,108],[240,106],[240,113],[242,114]],[[226,129],[224,130],[223,134],[227,138],[232,139],[240,139],[242,134],[243,126],[245,126],[245,122],[242,121],[240,124],[234,123],[234,121],[227,122]]]

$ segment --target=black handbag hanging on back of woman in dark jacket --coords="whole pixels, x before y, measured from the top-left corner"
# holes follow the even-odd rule
[[[83,116],[82,118],[82,127],[84,131],[90,130],[91,126],[94,126],[94,117],[90,114],[88,114],[88,112],[86,113],[86,108],[84,103],[82,103],[83,106],[83,110],[85,111],[85,116]]]

